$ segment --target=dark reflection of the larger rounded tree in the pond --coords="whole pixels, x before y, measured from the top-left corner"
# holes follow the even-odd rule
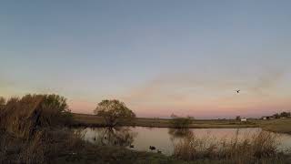
[[[130,128],[97,128],[95,142],[98,145],[127,147],[137,135]]]

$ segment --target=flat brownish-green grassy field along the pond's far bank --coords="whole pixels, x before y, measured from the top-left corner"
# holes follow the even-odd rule
[[[103,118],[94,115],[74,114],[75,126],[103,127]],[[134,121],[126,123],[126,126],[171,128],[170,119],[166,118],[135,118]],[[271,120],[253,119],[247,122],[235,119],[196,119],[189,128],[263,128],[268,131],[290,133],[291,118],[279,118]]]

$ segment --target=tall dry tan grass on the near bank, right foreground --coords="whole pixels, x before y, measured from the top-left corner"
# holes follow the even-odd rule
[[[240,137],[238,131],[229,141],[216,138],[188,136],[178,142],[174,156],[179,159],[227,159],[233,163],[277,159],[276,135],[266,131]]]

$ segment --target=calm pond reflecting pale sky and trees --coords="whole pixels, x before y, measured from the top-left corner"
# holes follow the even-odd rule
[[[251,136],[261,131],[261,128],[77,128],[86,141],[97,145],[121,146],[138,151],[161,151],[172,155],[175,144],[189,135],[197,138],[230,140],[236,136]],[[286,151],[291,148],[291,135],[277,135],[278,149]],[[150,146],[156,149],[149,149]]]

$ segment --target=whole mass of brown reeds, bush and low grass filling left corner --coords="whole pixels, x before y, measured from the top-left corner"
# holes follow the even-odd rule
[[[58,130],[70,120],[64,97],[26,95],[1,100],[0,163],[45,163],[60,149],[70,149],[75,135]]]

